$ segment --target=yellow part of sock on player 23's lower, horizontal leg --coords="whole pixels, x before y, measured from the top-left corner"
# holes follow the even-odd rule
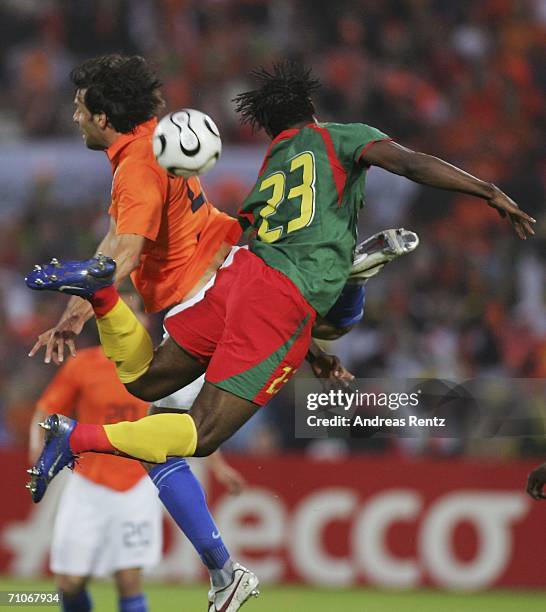
[[[138,421],[104,425],[110,444],[131,457],[164,463],[167,457],[191,457],[197,429],[187,414],[154,414]]]

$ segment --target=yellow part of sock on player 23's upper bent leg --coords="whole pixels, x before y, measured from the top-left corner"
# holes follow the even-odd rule
[[[97,319],[102,348],[116,364],[118,378],[127,384],[150,367],[154,347],[146,328],[120,298],[114,308]]]

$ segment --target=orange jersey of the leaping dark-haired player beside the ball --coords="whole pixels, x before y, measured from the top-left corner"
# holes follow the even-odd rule
[[[112,164],[109,213],[117,234],[147,238],[131,275],[147,312],[172,306],[196,285],[223,242],[235,244],[239,223],[207,201],[197,177],[171,177],[156,162],[156,119],[107,149]]]

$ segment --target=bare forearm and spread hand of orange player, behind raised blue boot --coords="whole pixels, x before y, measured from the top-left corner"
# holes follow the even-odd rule
[[[116,234],[116,224],[110,221],[110,228],[97,248],[102,253],[116,260],[116,276],[114,284],[119,286],[129,274],[138,267],[145,238],[137,234]],[[93,316],[93,309],[87,300],[73,296],[70,298],[59,322],[38,336],[29,357],[45,347],[44,362],[59,365],[64,360],[65,348],[74,357],[76,355],[75,339],[85,323]]]

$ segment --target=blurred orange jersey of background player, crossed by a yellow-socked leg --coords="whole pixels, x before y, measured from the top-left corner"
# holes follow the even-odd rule
[[[125,389],[114,364],[102,348],[94,347],[78,351],[63,365],[38,400],[38,408],[81,423],[105,425],[140,419],[146,416],[148,404]],[[115,491],[127,491],[146,474],[138,461],[95,453],[85,453],[76,471]]]

